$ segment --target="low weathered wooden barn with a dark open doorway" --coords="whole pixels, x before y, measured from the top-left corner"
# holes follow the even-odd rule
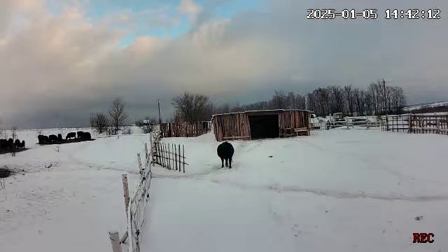
[[[309,111],[262,110],[214,115],[216,141],[309,136]]]

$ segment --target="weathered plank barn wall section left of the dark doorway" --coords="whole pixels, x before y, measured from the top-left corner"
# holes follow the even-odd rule
[[[251,139],[249,118],[245,113],[217,115],[212,123],[216,141]]]

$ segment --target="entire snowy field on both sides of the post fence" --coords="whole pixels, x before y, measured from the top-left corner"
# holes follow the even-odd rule
[[[189,165],[155,168],[141,251],[447,251],[447,140],[337,129],[232,141],[233,168],[221,169],[212,134],[164,139],[185,145]],[[107,230],[125,229],[121,174],[132,190],[145,141],[0,155],[0,167],[25,170],[0,190],[1,251],[111,251]],[[413,232],[435,242],[412,244]]]

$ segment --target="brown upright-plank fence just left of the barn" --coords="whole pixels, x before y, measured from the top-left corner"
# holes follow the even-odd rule
[[[211,131],[210,122],[162,123],[162,137],[198,137]]]

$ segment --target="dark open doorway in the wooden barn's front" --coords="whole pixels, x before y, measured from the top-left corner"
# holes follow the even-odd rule
[[[249,116],[251,139],[279,137],[279,115]]]

